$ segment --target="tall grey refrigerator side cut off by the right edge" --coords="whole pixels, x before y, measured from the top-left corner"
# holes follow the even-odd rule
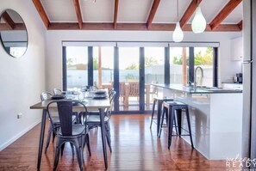
[[[256,158],[256,1],[243,1],[243,111],[241,157]],[[255,166],[246,166],[255,168]]]

